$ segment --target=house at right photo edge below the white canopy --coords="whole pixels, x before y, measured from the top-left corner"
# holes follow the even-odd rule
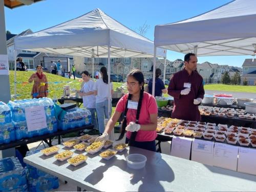
[[[241,76],[241,84],[248,82],[249,86],[256,85],[256,59],[245,59],[242,65],[243,74]]]

